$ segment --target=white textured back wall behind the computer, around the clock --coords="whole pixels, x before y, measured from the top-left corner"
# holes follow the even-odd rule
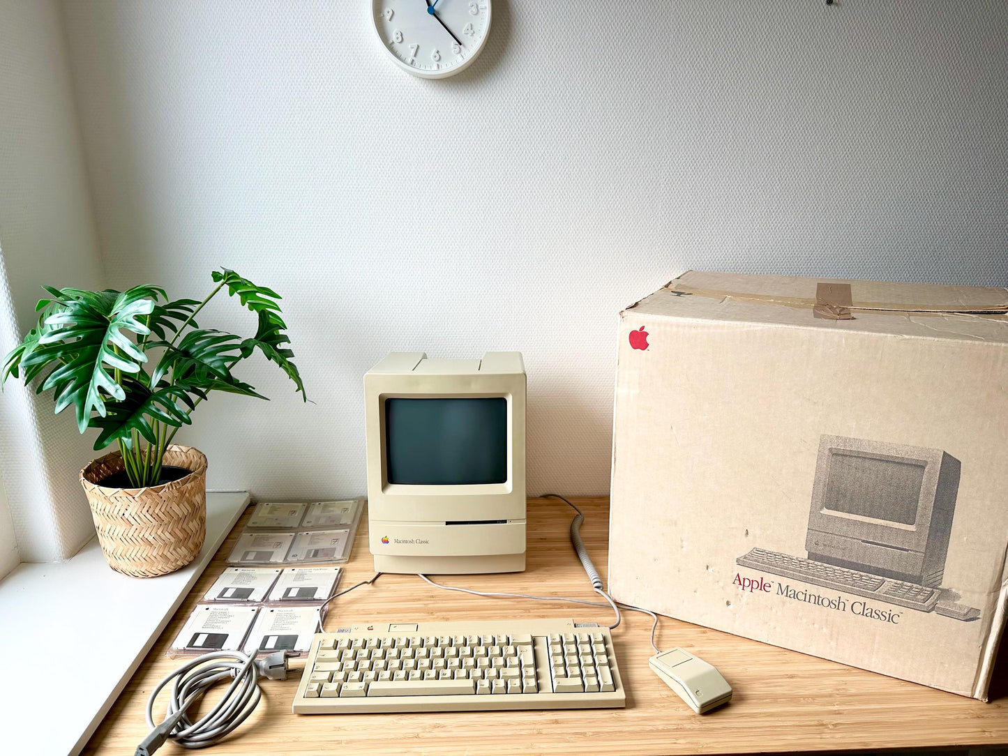
[[[364,0],[65,7],[110,282],[286,297],[317,403],[246,369],[179,434],[212,486],[360,493],[372,363],[515,349],[529,492],[605,492],[617,312],[679,271],[1008,283],[1000,1],[493,0],[439,82]]]

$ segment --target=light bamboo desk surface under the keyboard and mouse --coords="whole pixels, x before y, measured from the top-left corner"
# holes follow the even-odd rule
[[[609,504],[580,499],[583,535],[605,578]],[[244,524],[248,512],[243,515]],[[442,582],[483,591],[595,598],[571,546],[571,510],[530,499],[526,572],[448,577]],[[226,566],[236,527],[161,638],[133,675],[85,753],[132,754],[146,736],[144,707],[154,684],[180,662],[164,656],[197,600]],[[340,583],[374,575],[367,512]],[[414,576],[384,575],[331,605],[326,628],[370,620],[444,621],[574,617],[611,622],[611,613],[577,604],[487,599],[450,593]],[[263,700],[236,733],[208,754],[513,754],[749,753],[881,748],[996,746],[1008,743],[1008,685],[999,660],[991,704],[934,690],[756,641],[661,618],[657,645],[680,645],[707,659],[735,689],[730,705],[703,717],[686,708],[647,665],[651,619],[625,612],[613,631],[627,690],[626,709],[440,714],[297,716],[290,713],[300,669],[262,683]],[[924,651],[926,652],[926,651]],[[295,660],[297,661],[297,660]],[[298,662],[300,663],[300,662]],[[215,692],[211,692],[214,697]],[[216,698],[214,699],[216,700]],[[163,716],[161,700],[155,709]],[[180,754],[166,743],[160,753]]]

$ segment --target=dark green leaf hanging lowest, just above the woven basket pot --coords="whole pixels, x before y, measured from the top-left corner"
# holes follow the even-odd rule
[[[109,402],[108,412],[104,417],[91,418],[91,426],[102,429],[95,440],[96,450],[105,449],[118,439],[122,439],[131,449],[133,430],[138,431],[148,443],[157,444],[152,420],[171,427],[192,422],[188,413],[195,405],[184,386],[162,383],[156,391],[152,391],[133,378],[124,378],[122,386],[125,398]],[[185,404],[188,409],[181,404]]]

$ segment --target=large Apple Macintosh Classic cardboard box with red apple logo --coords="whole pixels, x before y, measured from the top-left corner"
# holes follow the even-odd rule
[[[986,700],[1008,290],[689,272],[621,313],[609,587]]]

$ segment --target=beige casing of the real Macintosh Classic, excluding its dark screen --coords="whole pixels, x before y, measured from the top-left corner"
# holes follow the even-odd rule
[[[364,376],[368,530],[375,570],[459,575],[525,569],[525,368],[518,352],[429,360],[395,352]],[[504,396],[508,480],[474,486],[389,484],[382,453],[384,399]]]

